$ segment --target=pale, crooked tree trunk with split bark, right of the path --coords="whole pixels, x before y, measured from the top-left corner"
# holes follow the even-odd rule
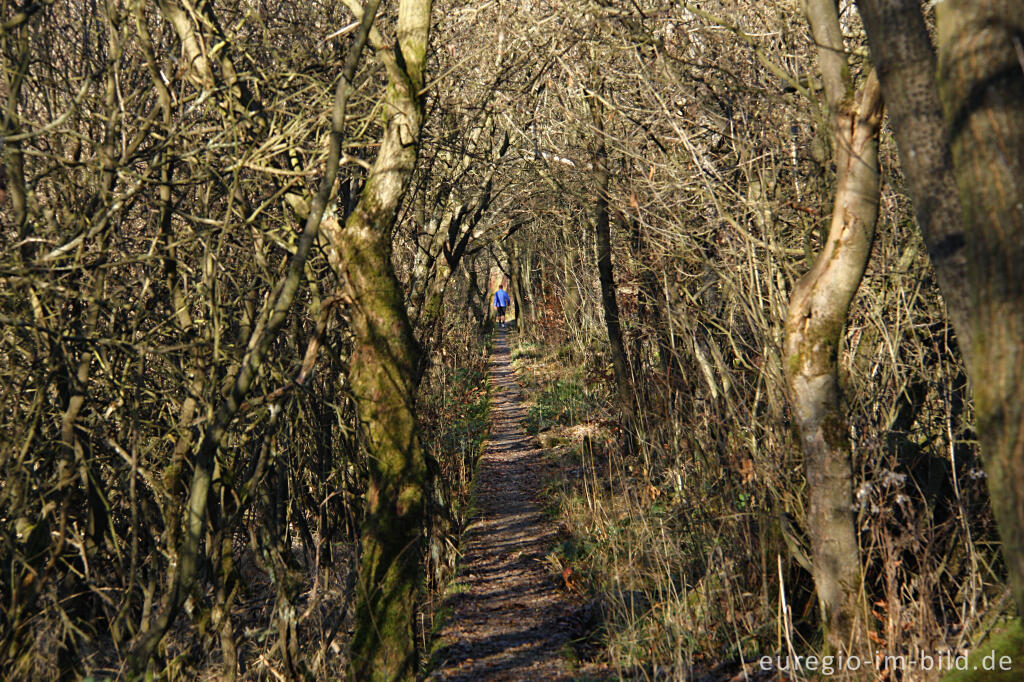
[[[834,652],[866,645],[853,468],[840,406],[839,344],[867,264],[879,211],[882,94],[872,72],[855,91],[836,3],[805,2],[831,115],[836,196],[828,239],[797,284],[785,321],[785,377],[804,450],[807,531],[822,626]]]

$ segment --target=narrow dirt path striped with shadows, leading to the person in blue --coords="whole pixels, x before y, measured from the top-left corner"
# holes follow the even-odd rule
[[[570,680],[570,603],[544,557],[555,526],[538,504],[542,451],[523,431],[519,386],[499,331],[490,358],[490,437],[476,471],[477,514],[463,536],[463,560],[445,605],[440,680]]]

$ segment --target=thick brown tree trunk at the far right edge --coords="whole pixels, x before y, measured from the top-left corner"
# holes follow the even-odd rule
[[[1016,0],[936,5],[939,93],[959,186],[978,437],[1024,616],[1024,13]]]

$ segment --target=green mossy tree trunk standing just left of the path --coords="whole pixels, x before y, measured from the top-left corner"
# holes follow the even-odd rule
[[[391,265],[391,238],[423,123],[430,8],[430,0],[399,4],[394,50],[378,51],[388,91],[377,159],[344,227],[336,220],[324,224],[331,264],[350,298],[349,381],[370,474],[348,670],[353,680],[411,680],[417,671],[427,466],[415,412],[420,350]]]

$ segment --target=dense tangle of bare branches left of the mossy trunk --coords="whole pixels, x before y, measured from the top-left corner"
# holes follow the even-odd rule
[[[179,569],[194,449],[296,251],[353,17],[56,1],[8,26],[15,9],[0,38],[0,671],[118,676]],[[339,214],[373,160],[382,82],[358,72]],[[158,649],[169,677],[344,669],[365,464],[344,301],[318,250],[305,274],[217,453],[200,580]]]

